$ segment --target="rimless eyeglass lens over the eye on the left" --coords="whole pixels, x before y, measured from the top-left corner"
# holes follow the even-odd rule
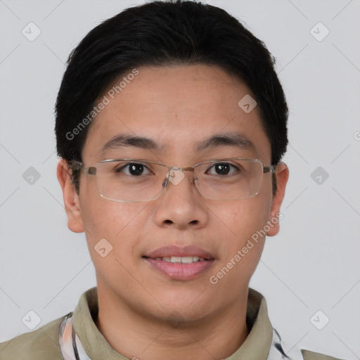
[[[136,203],[153,200],[162,191],[167,167],[150,162],[110,160],[99,162],[96,180],[101,196]]]

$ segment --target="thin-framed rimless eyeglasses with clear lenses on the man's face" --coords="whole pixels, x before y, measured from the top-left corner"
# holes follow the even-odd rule
[[[74,170],[83,168],[85,174],[96,175],[101,197],[120,203],[158,199],[169,182],[177,185],[184,179],[184,172],[193,172],[191,179],[203,198],[251,198],[259,193],[263,175],[276,170],[276,165],[264,167],[262,160],[243,158],[211,160],[193,167],[171,167],[134,159],[103,160],[91,167],[73,160],[71,165]]]

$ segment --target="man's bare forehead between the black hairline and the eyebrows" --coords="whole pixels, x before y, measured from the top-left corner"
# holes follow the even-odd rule
[[[136,76],[127,76],[131,73]],[[262,160],[270,158],[257,107],[248,112],[240,106],[244,96],[252,96],[250,89],[228,72],[212,65],[181,65],[141,67],[129,74],[99,97],[98,103],[106,105],[91,123],[84,159],[98,158],[119,136],[155,141],[155,146],[143,141],[144,150],[193,157],[209,149],[204,144],[221,134],[240,136]]]

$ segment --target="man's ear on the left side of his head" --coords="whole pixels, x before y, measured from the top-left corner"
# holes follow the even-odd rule
[[[68,228],[74,233],[84,232],[82,225],[82,215],[80,213],[79,195],[75,190],[75,185],[71,180],[71,169],[65,159],[60,159],[58,162],[58,181],[63,190],[63,199],[66,214],[68,216]]]

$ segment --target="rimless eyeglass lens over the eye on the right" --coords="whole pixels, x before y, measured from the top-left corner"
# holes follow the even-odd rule
[[[262,184],[260,160],[216,160],[195,167],[198,191],[212,200],[240,200],[256,195]]]

